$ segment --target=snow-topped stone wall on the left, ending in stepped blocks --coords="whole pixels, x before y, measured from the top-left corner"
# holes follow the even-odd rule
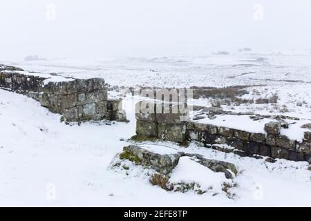
[[[104,79],[73,79],[0,66],[0,87],[32,97],[68,122],[125,121],[122,100],[109,100]]]

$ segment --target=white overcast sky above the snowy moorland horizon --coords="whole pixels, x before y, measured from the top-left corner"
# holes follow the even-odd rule
[[[55,20],[46,19],[48,3]],[[254,19],[254,4],[263,20]],[[0,59],[311,49],[310,0],[1,0]]]

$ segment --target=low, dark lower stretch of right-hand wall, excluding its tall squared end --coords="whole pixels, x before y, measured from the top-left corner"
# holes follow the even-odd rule
[[[279,133],[249,133],[211,124],[187,123],[187,139],[204,144],[227,144],[251,155],[263,155],[294,161],[309,161],[310,137],[296,142]]]

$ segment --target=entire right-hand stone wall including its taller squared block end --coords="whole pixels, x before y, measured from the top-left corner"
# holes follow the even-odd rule
[[[148,103],[155,106],[154,103]],[[180,115],[185,115],[185,111],[173,115],[152,114],[147,113],[141,106],[146,106],[146,104],[142,105],[140,102],[136,106],[136,134],[138,136],[157,137],[161,140],[179,143],[197,141],[206,144],[206,146],[227,144],[249,155],[263,155],[311,163],[311,132],[305,132],[303,142],[296,142],[281,135],[281,125],[275,122],[265,125],[267,134],[249,133],[234,128],[185,121],[185,118],[180,121]]]

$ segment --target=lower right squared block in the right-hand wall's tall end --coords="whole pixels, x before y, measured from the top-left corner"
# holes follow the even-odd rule
[[[184,142],[186,134],[185,125],[158,124],[158,137],[162,140]]]

